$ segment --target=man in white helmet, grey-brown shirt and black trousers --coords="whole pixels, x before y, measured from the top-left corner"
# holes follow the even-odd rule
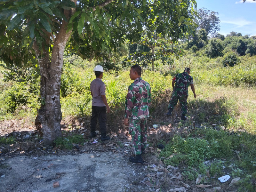
[[[96,136],[95,128],[97,125],[97,119],[99,120],[100,132],[101,132],[101,140],[109,140],[110,138],[107,136],[107,114],[109,113],[110,108],[108,106],[107,98],[106,98],[106,86],[102,82],[103,77],[103,67],[97,65],[94,68],[94,73],[96,78],[91,82],[90,90],[92,95],[92,118],[91,118],[91,138]]]

